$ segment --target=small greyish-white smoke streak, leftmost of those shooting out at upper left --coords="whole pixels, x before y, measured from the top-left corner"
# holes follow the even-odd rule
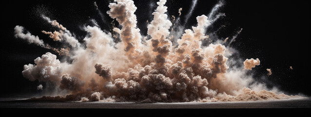
[[[19,25],[15,26],[15,28],[14,28],[15,38],[24,39],[29,44],[34,43],[34,44],[39,45],[41,47],[45,47],[43,40],[39,39],[38,36],[34,36],[34,35],[30,34],[29,32],[27,32],[26,34],[23,32],[24,32],[24,27],[19,26]]]

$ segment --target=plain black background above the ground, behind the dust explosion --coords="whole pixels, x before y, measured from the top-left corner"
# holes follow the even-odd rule
[[[94,1],[96,0],[10,0],[1,3],[1,96],[38,93],[36,88],[39,82],[28,81],[22,77],[23,65],[34,64],[34,59],[46,52],[56,54],[14,38],[14,27],[23,26],[45,43],[60,46],[60,43],[53,42],[41,33],[41,30],[55,30],[55,27],[40,18],[40,14],[44,14],[73,32],[81,42],[86,35],[81,27],[90,24],[90,19],[97,20],[102,30],[111,29],[109,22],[112,19],[106,11],[109,10],[109,2],[112,1],[97,0],[97,6],[108,23],[101,20]],[[155,2],[134,1],[137,7],[137,27],[142,35],[147,34],[146,20],[152,20]],[[195,17],[208,15],[216,3],[216,0],[198,0],[186,28],[196,25]],[[150,4],[155,6],[150,7]],[[168,6],[170,16],[178,16],[178,9],[182,7],[181,23],[185,23],[183,19],[191,6],[191,0],[168,0],[165,5]],[[224,39],[232,37],[243,28],[232,47],[239,51],[242,59],[260,59],[260,65],[252,71],[257,81],[265,82],[269,87],[277,87],[286,94],[311,96],[308,57],[311,34],[310,4],[307,0],[228,0],[220,11],[225,13],[226,17],[215,22],[210,30],[226,25],[217,32],[218,36]],[[293,70],[290,70],[290,66]],[[272,69],[272,76],[267,77],[267,68]]]

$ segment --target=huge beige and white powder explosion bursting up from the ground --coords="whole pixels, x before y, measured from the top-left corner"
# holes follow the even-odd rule
[[[115,0],[109,4],[107,14],[122,27],[113,27],[117,38],[121,40],[118,43],[114,42],[115,34],[98,28],[94,20],[97,26],[85,26],[88,35],[83,42],[79,42],[73,33],[56,20],[41,15],[43,20],[58,28],[58,31],[42,33],[54,41],[65,43],[66,48],[53,48],[38,36],[24,33],[24,27],[16,26],[16,38],[51,49],[59,55],[65,55],[63,59],[68,59],[67,62],[60,62],[56,55],[47,52],[35,59],[35,64],[24,65],[22,75],[25,78],[46,82],[46,88],[41,84],[37,88],[43,89],[48,97],[33,99],[206,102],[293,97],[273,93],[278,92],[275,89],[273,92],[266,91],[263,84],[254,83],[252,76],[246,73],[260,64],[259,59],[246,59],[244,68],[234,65],[241,63],[228,59],[233,56],[233,49],[223,45],[228,38],[202,46],[202,40],[209,39],[206,28],[224,16],[216,14],[223,5],[222,1],[214,6],[209,18],[198,16],[196,26],[179,32],[173,31],[173,27],[178,26],[175,24],[180,23],[179,17],[177,20],[174,17],[172,23],[166,14],[165,3],[166,0],[157,2],[158,6],[152,14],[154,19],[147,25],[147,34],[151,39],[142,36],[136,28],[134,13],[137,8],[132,0]],[[96,2],[94,4],[99,11]],[[192,10],[195,4],[196,0],[193,1]],[[192,10],[186,15],[186,20]],[[179,16],[181,11],[182,8],[178,9]],[[179,34],[182,34],[181,37],[178,37]]]

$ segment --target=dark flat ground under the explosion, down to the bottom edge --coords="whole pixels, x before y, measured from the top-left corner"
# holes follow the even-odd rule
[[[36,116],[309,116],[311,98],[292,98],[247,102],[182,102],[182,103],[134,103],[134,102],[58,102],[0,98],[0,113],[10,115],[34,114]],[[61,114],[61,115],[60,115]]]

